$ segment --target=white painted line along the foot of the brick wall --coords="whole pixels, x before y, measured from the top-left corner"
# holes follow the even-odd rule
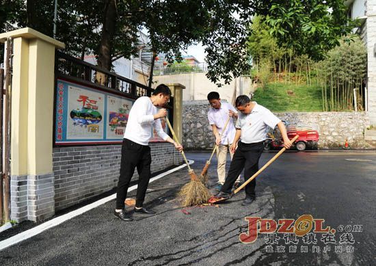
[[[193,160],[188,160],[189,164],[194,163]],[[149,183],[152,183],[153,181],[158,180],[159,178],[166,176],[167,174],[171,174],[173,172],[176,172],[177,170],[180,170],[182,168],[185,168],[187,166],[186,164],[180,165],[176,168],[173,168],[172,170],[169,170],[167,172],[164,172],[162,174],[159,174],[153,178],[150,178]],[[134,185],[132,187],[129,187],[128,191],[132,191],[137,189],[137,185]],[[72,219],[73,217],[76,217],[78,215],[81,215],[82,213],[85,213],[86,211],[90,211],[91,209],[94,209],[98,207],[101,204],[105,204],[106,202],[109,202],[110,200],[116,199],[116,194],[112,194],[111,196],[108,196],[106,198],[103,198],[101,200],[97,200],[96,202],[93,202],[91,204],[88,204],[80,209],[77,209],[75,211],[71,211],[70,213],[66,213],[62,216],[53,218],[52,220],[49,220],[43,224],[40,224],[39,226],[36,226],[34,228],[31,228],[29,230],[26,230],[25,232],[20,232],[18,235],[14,235],[13,237],[10,237],[8,239],[5,239],[3,241],[0,241],[0,250],[3,250],[5,248],[10,247],[11,245],[15,245],[16,243],[19,243],[21,241],[24,241],[26,239],[29,239],[30,237],[33,237],[34,235],[38,235],[41,232],[53,228],[59,224],[62,224],[63,222],[66,222],[67,220]]]

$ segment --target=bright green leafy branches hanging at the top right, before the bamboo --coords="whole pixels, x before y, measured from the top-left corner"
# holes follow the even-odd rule
[[[265,21],[280,46],[315,60],[323,59],[355,25],[347,19],[344,1],[338,0],[276,1]]]

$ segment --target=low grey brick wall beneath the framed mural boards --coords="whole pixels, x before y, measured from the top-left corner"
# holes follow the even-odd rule
[[[150,144],[151,171],[159,172],[183,159],[170,143]],[[65,209],[116,187],[121,145],[53,148],[55,210]],[[137,170],[133,178],[137,178]]]

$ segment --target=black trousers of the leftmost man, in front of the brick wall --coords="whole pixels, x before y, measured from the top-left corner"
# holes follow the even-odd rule
[[[122,143],[122,159],[120,163],[120,176],[118,189],[116,191],[116,209],[124,209],[124,200],[129,183],[135,168],[139,175],[136,207],[142,207],[145,200],[146,189],[151,176],[150,164],[152,157],[150,155],[150,147],[137,144],[129,139],[123,139]]]

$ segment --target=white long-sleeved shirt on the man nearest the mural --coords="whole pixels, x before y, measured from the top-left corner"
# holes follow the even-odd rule
[[[124,138],[147,146],[149,139],[152,137],[152,127],[154,126],[159,137],[166,140],[168,135],[162,129],[161,120],[154,120],[154,115],[157,114],[157,112],[157,107],[152,104],[149,97],[139,97],[135,103],[133,103],[131,111],[129,112]]]

